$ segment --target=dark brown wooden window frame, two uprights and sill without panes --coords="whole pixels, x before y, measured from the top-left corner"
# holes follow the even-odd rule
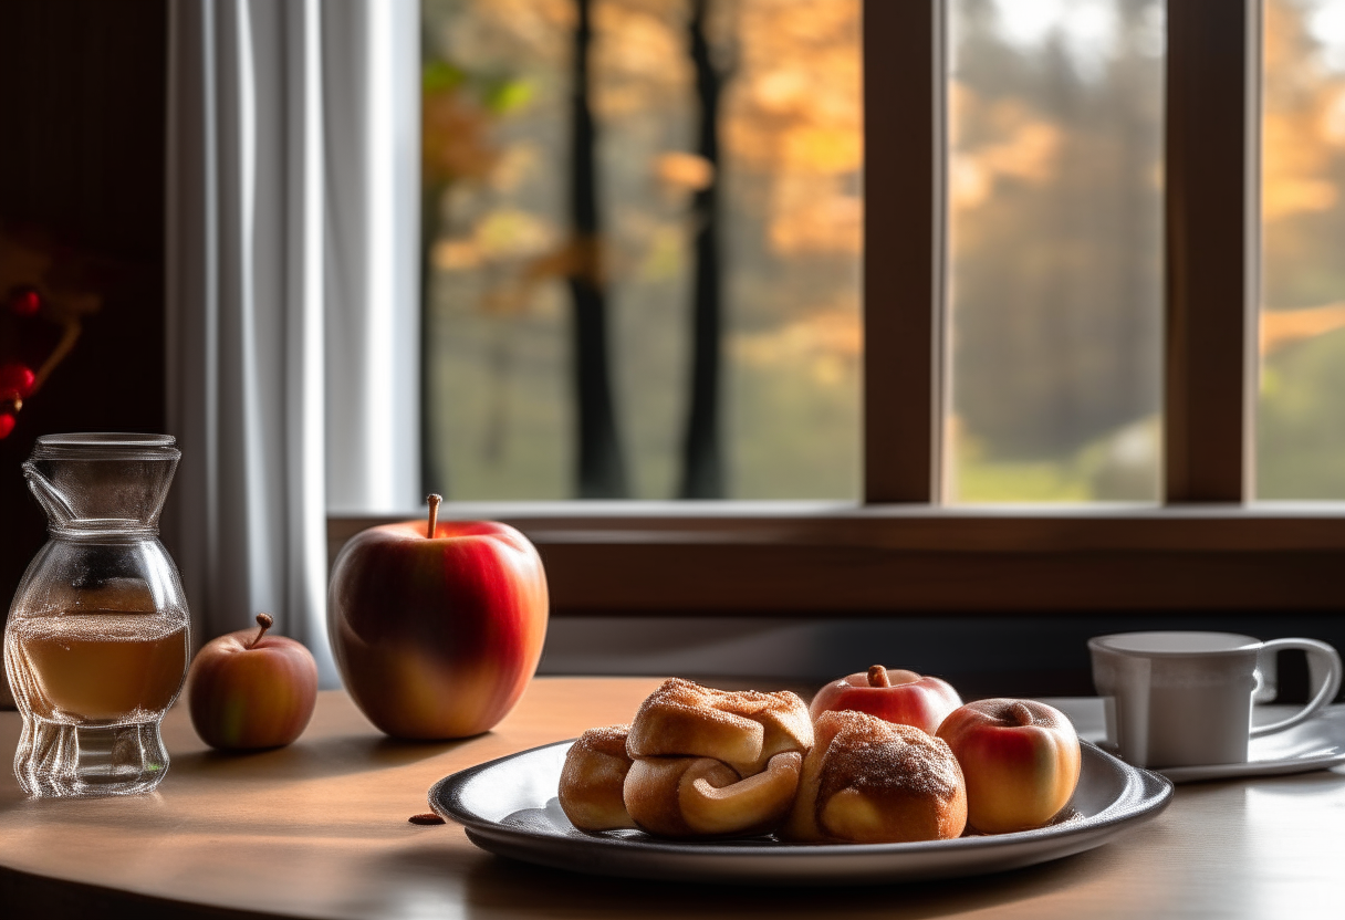
[[[1248,503],[1260,0],[1167,3],[1163,504],[943,504],[946,15],[863,5],[863,500],[447,506],[527,533],[557,615],[1345,607],[1345,503]],[[382,521],[332,518],[332,554]]]

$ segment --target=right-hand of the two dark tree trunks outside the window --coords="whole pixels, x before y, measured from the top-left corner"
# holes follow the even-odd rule
[[[695,281],[691,317],[691,405],[682,441],[681,498],[724,498],[724,445],[720,379],[724,332],[720,272],[720,94],[724,75],[710,61],[705,20],[710,0],[691,0],[689,24],[695,94],[701,105],[697,152],[712,167],[705,188],[691,202],[695,227]]]

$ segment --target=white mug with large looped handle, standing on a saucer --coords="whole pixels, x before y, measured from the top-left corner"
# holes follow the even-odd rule
[[[1291,717],[1252,728],[1256,662],[1302,648],[1318,690]],[[1088,640],[1093,685],[1106,699],[1107,740],[1137,767],[1247,761],[1248,738],[1311,718],[1336,698],[1341,658],[1315,639],[1260,642],[1232,632],[1119,632]]]

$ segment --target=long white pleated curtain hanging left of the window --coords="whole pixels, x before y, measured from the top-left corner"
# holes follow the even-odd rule
[[[324,686],[327,510],[418,495],[416,0],[174,0],[164,538],[198,642],[258,611]]]

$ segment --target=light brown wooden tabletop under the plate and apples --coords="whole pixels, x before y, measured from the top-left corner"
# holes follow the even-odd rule
[[[75,894],[97,904],[101,889],[117,889],[165,911],[304,917],[1345,916],[1345,773],[1334,771],[1181,785],[1161,816],[1096,850],[880,888],[588,877],[490,855],[455,825],[408,823],[443,776],[628,721],[656,685],[538,678],[494,732],[441,744],[385,738],[348,697],[325,691],[296,744],[243,756],[207,749],[178,706],[164,721],[172,765],[153,795],[30,800],[3,771],[0,868],[11,882],[0,897],[20,892],[11,897],[31,905],[32,890],[55,890],[74,911]],[[0,757],[17,734],[19,716],[0,713]]]

